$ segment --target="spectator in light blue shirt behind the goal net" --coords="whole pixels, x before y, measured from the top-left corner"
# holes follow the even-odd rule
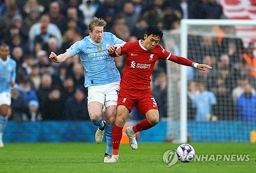
[[[195,95],[192,101],[192,107],[196,109],[197,121],[209,121],[212,114],[212,106],[217,104],[214,93],[205,90],[204,82],[198,83],[199,93]]]

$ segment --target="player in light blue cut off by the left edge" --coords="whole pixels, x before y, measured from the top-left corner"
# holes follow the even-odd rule
[[[16,62],[10,57],[9,46],[0,46],[0,148],[4,147],[2,140],[8,122],[8,109],[11,105],[11,88],[15,84]]]

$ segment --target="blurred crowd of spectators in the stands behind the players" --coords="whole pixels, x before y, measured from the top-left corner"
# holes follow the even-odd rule
[[[225,18],[221,5],[215,0],[1,0],[0,41],[9,45],[10,55],[17,62],[11,120],[89,120],[87,90],[83,87],[84,70],[79,55],[63,63],[52,63],[48,57],[51,51],[57,55],[63,53],[74,42],[87,36],[88,23],[93,16],[102,17],[107,22],[104,31],[112,32],[124,41],[143,39],[145,29],[150,25],[174,30],[180,28],[182,18]],[[189,38],[188,58],[207,63],[215,70],[195,72],[189,81],[190,102],[200,93],[196,87],[199,79],[204,80],[205,90],[216,97],[216,101],[210,103],[219,105],[214,110],[222,109],[221,101],[226,104],[231,100],[230,104],[235,104],[232,99],[226,101],[229,99],[226,95],[231,96],[230,93],[234,92],[238,99],[240,95],[234,91],[238,86],[239,92],[244,93],[241,90],[247,91],[247,85],[251,84],[248,88],[255,93],[256,72],[249,75],[248,68],[252,64],[256,68],[256,60],[252,60],[249,48],[245,49],[242,42],[236,42],[241,40],[223,39],[218,42],[215,38],[202,38],[197,45],[204,53],[197,52],[198,49],[193,47],[198,40],[201,39]],[[160,44],[164,47],[163,41]],[[241,58],[244,54],[248,57]],[[115,62],[122,75],[125,56],[115,58]],[[234,76],[238,78],[233,79]],[[243,79],[247,82],[242,82]],[[231,86],[230,81],[233,83]],[[152,75],[152,91],[159,104],[160,119],[167,116],[166,88],[166,64],[159,61]],[[191,103],[189,118],[196,119],[196,111],[200,109],[197,105]],[[232,119],[233,107],[231,110],[223,109],[223,113],[219,111],[220,115],[217,111],[210,114],[219,116],[218,119],[225,119],[221,116],[230,114]],[[144,118],[136,110],[132,116],[132,119]]]

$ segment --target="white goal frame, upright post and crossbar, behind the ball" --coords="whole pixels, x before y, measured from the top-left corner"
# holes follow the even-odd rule
[[[181,56],[187,57],[188,26],[255,26],[256,20],[235,20],[235,19],[182,19],[180,31]],[[199,62],[202,63],[202,62]],[[181,66],[181,95],[180,95],[180,141],[187,142],[187,67]]]

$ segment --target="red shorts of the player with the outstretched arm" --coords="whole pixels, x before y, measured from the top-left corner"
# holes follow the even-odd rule
[[[117,106],[119,105],[124,105],[130,112],[135,106],[143,115],[146,115],[149,110],[158,110],[157,102],[150,89],[135,92],[121,89],[117,100]]]

